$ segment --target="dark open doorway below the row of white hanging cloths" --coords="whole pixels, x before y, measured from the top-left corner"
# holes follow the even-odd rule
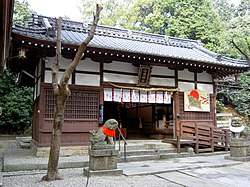
[[[104,102],[104,122],[116,119],[127,139],[144,139],[173,134],[173,103]]]

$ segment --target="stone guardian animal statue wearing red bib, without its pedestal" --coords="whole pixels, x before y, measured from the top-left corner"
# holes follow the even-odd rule
[[[114,137],[118,122],[115,119],[107,120],[96,132],[90,131],[91,149],[106,149],[114,147]]]

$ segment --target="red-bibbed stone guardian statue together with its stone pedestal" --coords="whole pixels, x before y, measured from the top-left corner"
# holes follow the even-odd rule
[[[122,175],[117,169],[118,150],[115,149],[114,137],[118,122],[107,120],[96,132],[90,131],[91,148],[89,150],[89,168],[84,169],[84,175]]]

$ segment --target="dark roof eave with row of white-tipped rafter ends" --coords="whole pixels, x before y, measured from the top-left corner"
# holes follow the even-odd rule
[[[43,48],[53,48],[56,46],[55,40],[52,38],[51,40],[39,40],[37,38],[32,38],[28,36],[23,36],[18,33],[13,33],[13,38],[17,40],[22,40],[23,43],[26,45],[35,45],[36,47],[43,47]],[[62,47],[64,49],[74,50],[76,51],[78,49],[78,45],[75,43],[63,43]],[[228,63],[230,65],[226,65],[221,63],[220,61],[212,62],[212,61],[199,61],[194,59],[181,59],[176,57],[170,57],[170,56],[157,56],[153,54],[142,54],[142,53],[133,53],[130,51],[121,51],[121,50],[115,50],[110,48],[103,48],[103,47],[97,47],[97,46],[91,46],[89,45],[87,47],[86,52],[88,53],[95,53],[95,55],[118,55],[116,59],[124,60],[125,58],[131,58],[133,60],[137,60],[138,62],[142,62],[141,60],[145,60],[146,63],[152,63],[152,64],[163,64],[165,65],[175,65],[180,67],[180,69],[183,67],[189,69],[193,67],[197,67],[199,69],[202,69],[203,71],[212,71],[213,72],[220,72],[223,71],[223,75],[227,74],[235,74],[243,71],[247,71],[249,66],[243,66],[243,65],[234,65],[232,63]],[[183,69],[183,68],[182,68]],[[221,73],[218,73],[221,74]]]

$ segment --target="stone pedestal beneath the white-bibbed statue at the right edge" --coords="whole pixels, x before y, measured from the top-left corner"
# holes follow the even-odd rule
[[[249,146],[250,143],[246,138],[232,138],[230,140],[230,156],[225,158],[236,161],[250,161]]]

